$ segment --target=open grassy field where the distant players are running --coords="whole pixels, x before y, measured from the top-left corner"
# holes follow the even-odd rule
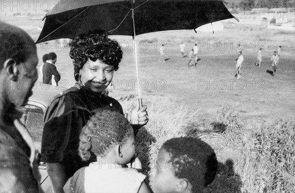
[[[40,31],[26,25],[43,25],[40,21],[6,21],[25,28],[34,39]],[[224,23],[224,30],[214,34],[181,30],[138,36],[142,41],[138,53],[142,98],[150,117],[137,139],[145,171],[148,173],[165,140],[194,136],[212,145],[219,161],[218,174],[206,193],[294,193],[294,37],[294,32],[232,23]],[[137,98],[134,51],[130,37],[116,39],[124,55],[111,96],[128,112]],[[241,79],[236,80],[239,41],[246,47]],[[188,58],[180,56],[181,42],[187,46],[186,55],[195,42],[204,45],[196,67],[187,67]],[[158,62],[161,43],[165,43],[165,63]],[[271,70],[270,57],[280,45],[283,53],[272,77],[266,70]],[[260,46],[265,50],[258,68],[254,63]],[[45,53],[57,53],[60,86],[72,86],[69,48],[61,49],[55,42],[37,47],[40,64]]]

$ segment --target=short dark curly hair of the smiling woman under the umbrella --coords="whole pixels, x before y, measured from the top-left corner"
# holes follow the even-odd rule
[[[123,52],[116,40],[108,38],[108,33],[104,30],[89,31],[88,34],[78,35],[72,42],[70,57],[74,63],[75,80],[79,81],[79,71],[87,62],[99,59],[101,62],[114,66],[118,70],[118,65],[122,59]]]

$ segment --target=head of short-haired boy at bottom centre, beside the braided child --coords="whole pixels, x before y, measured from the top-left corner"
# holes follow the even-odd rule
[[[217,172],[214,150],[197,138],[172,138],[160,149],[150,182],[155,193],[203,193]]]

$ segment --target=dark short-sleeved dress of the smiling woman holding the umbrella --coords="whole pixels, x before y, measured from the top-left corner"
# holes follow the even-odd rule
[[[44,130],[41,145],[41,161],[59,162],[65,168],[67,177],[71,177],[79,168],[95,162],[91,155],[89,162],[79,156],[79,136],[90,117],[90,112],[97,108],[115,110],[123,114],[118,101],[101,95],[76,83],[55,97],[44,116]]]

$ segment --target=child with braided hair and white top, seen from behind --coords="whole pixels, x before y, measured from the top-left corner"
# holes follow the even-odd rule
[[[82,167],[67,181],[65,193],[149,193],[146,176],[123,167],[135,154],[133,128],[116,111],[97,110],[80,134],[79,155],[97,161]]]

